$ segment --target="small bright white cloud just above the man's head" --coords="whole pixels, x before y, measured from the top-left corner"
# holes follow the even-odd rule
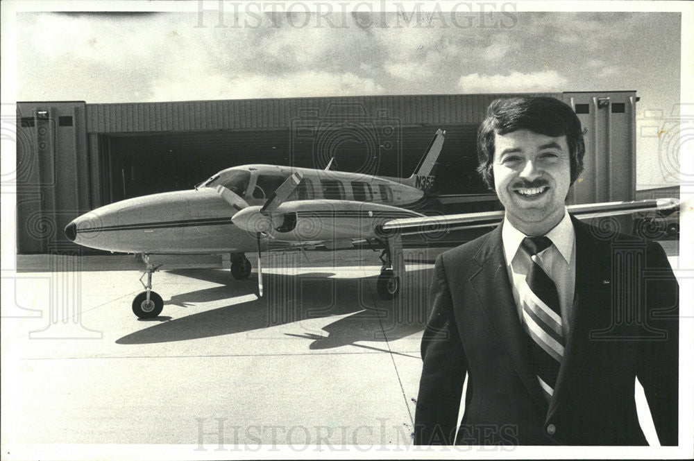
[[[458,80],[464,93],[554,92],[566,89],[568,80],[557,71],[511,72],[508,75],[471,73]]]

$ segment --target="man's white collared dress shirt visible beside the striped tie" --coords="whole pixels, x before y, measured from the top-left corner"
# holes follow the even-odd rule
[[[570,320],[573,313],[573,295],[576,286],[576,234],[573,223],[564,209],[564,218],[555,227],[545,234],[552,241],[552,245],[546,250],[539,252],[539,264],[545,273],[555,282],[559,293],[559,308],[561,309],[561,328],[564,338],[568,338],[570,331]],[[521,306],[521,296],[518,287],[525,282],[527,273],[530,272],[530,259],[527,256],[519,255],[523,252],[521,243],[527,237],[523,232],[516,229],[508,218],[504,218],[501,229],[501,238],[504,243],[504,256],[506,267],[509,272],[511,289],[516,301],[518,318],[523,321],[523,307]]]

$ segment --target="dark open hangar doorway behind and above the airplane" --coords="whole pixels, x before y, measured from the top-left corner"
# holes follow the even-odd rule
[[[217,171],[276,164],[407,177],[437,128],[446,130],[439,156],[440,193],[486,193],[475,172],[477,125],[396,127],[387,137],[357,136],[353,128],[297,133],[287,129],[104,134],[103,205],[151,193],[192,189]]]

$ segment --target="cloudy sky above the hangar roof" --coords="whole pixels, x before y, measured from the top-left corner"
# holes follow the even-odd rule
[[[483,16],[459,3],[476,10],[307,15],[304,3],[289,14],[225,5],[221,17],[19,13],[17,100],[635,89],[640,125],[661,123],[679,103],[677,12],[516,12],[501,3]],[[658,165],[657,139],[637,139],[639,188],[673,182]]]

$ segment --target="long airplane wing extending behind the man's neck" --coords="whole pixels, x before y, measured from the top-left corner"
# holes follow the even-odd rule
[[[603,202],[584,205],[569,205],[570,214],[579,219],[597,218],[600,216],[618,216],[644,211],[667,211],[679,207],[674,198],[657,200],[635,200],[633,202]],[[424,216],[418,218],[393,219],[381,225],[382,232],[400,232],[403,235],[425,234],[428,232],[475,229],[493,227],[504,218],[504,211],[482,211],[479,213],[450,214],[441,216]]]

